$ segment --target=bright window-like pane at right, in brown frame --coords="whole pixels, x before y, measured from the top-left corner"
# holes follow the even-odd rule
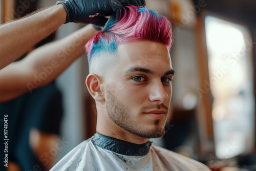
[[[205,31],[215,150],[226,159],[253,148],[252,42],[245,27],[213,16]]]

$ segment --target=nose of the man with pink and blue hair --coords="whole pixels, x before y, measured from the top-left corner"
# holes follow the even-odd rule
[[[162,81],[155,82],[150,90],[150,100],[165,103],[168,100],[168,94],[164,90]]]

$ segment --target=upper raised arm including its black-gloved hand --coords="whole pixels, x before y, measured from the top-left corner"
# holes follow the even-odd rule
[[[130,2],[131,1],[131,2]],[[116,13],[117,19],[123,6],[145,4],[144,0],[66,0],[44,11],[0,26],[0,70],[36,42],[45,38],[64,23],[75,22],[104,26],[104,16]]]

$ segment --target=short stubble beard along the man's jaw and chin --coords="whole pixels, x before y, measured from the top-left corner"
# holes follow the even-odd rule
[[[107,88],[106,96],[106,112],[108,113],[110,120],[116,125],[120,126],[127,132],[143,138],[159,138],[164,136],[165,129],[164,126],[160,125],[159,119],[155,120],[154,129],[146,129],[143,125],[138,125],[135,122],[136,118],[132,117],[131,110],[118,99],[116,99],[109,88]],[[163,107],[166,109],[164,105]]]

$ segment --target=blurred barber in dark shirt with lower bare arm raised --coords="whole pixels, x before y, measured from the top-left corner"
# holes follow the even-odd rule
[[[84,53],[84,44],[97,32],[87,25],[1,70],[0,113],[9,116],[9,170],[31,170],[34,165],[49,170],[54,165],[57,154],[50,151],[60,143],[62,103],[52,81]]]

